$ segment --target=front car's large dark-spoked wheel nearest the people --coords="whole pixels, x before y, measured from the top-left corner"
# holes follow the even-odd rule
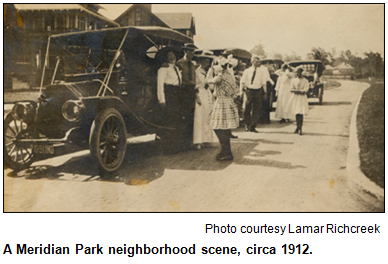
[[[126,151],[124,119],[114,108],[100,112],[91,127],[89,138],[90,154],[103,173],[118,170]]]

